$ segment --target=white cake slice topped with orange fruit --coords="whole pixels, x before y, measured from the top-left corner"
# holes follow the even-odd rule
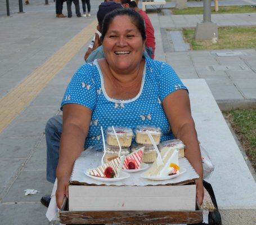
[[[160,155],[163,164],[158,165],[155,161],[145,172],[147,177],[166,177],[179,173],[178,150],[164,149]]]

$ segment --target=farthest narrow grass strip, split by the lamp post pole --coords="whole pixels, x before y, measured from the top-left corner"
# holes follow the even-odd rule
[[[196,15],[203,14],[203,7],[189,7],[183,10],[178,10],[177,8],[172,8],[173,15]],[[214,7],[212,7],[212,14],[220,14],[220,13],[250,13],[256,12],[256,8],[251,6],[219,6],[219,11],[215,12]]]

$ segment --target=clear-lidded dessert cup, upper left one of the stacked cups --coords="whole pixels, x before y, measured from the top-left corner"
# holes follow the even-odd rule
[[[122,147],[130,147],[132,143],[133,132],[129,127],[114,127],[116,136]],[[112,127],[107,127],[107,144],[113,146],[119,146],[116,140],[115,133]]]

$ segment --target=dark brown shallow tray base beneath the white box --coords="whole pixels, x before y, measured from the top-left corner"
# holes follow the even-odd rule
[[[185,211],[69,211],[68,200],[60,210],[62,224],[172,224],[200,223],[203,211],[196,205],[196,210]]]

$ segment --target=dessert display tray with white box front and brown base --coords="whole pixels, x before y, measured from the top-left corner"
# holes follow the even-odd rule
[[[75,161],[69,199],[59,212],[63,224],[170,224],[199,223],[203,212],[196,204],[194,180],[199,176],[186,158],[186,173],[167,181],[132,173],[118,182],[96,181],[84,174],[101,163],[102,152],[84,151]]]

